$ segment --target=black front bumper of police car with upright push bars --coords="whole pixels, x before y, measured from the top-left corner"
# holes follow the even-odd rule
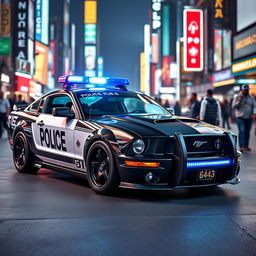
[[[121,178],[120,187],[149,189],[149,190],[173,190],[185,187],[206,187],[219,184],[238,184],[237,177],[240,170],[239,152],[236,151],[234,141],[230,133],[225,136],[230,145],[223,156],[191,158],[188,157],[186,145],[181,134],[175,134],[174,153],[169,158],[130,158],[125,155],[119,156],[119,174]],[[187,163],[191,161],[220,161],[230,159],[230,165],[214,167],[193,167],[188,168]],[[132,167],[127,166],[125,161],[159,162],[159,167]],[[198,172],[202,169],[213,169],[216,173],[212,180],[198,180]],[[149,182],[146,176],[153,179]]]

